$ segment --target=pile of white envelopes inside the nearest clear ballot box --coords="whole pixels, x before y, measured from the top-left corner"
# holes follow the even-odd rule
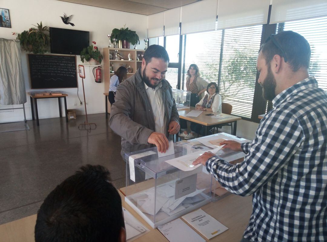
[[[159,211],[172,216],[189,206],[205,200],[201,195],[205,189],[197,190],[181,198],[175,199],[175,181],[157,187],[156,201],[154,187],[135,193],[129,196],[129,199],[136,201],[136,206],[140,211],[149,215],[155,215]],[[155,210],[154,210],[154,204]]]

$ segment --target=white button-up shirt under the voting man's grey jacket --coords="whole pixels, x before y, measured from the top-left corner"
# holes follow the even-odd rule
[[[167,119],[164,115],[164,106],[162,102],[162,83],[160,82],[155,89],[148,87],[146,83],[144,83],[144,86],[152,107],[156,127],[155,131],[167,135]]]

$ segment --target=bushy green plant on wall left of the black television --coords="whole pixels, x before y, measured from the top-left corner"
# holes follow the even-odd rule
[[[44,54],[49,50],[50,45],[49,27],[43,26],[42,21],[37,26],[33,26],[35,28],[30,28],[18,34],[17,40],[20,40],[23,50],[33,54]]]

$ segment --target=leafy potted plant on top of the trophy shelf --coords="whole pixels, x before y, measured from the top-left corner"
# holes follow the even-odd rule
[[[122,48],[129,49],[130,43],[132,45],[140,44],[139,36],[135,31],[132,31],[128,28],[124,27],[117,29],[114,28],[111,33],[111,42],[113,43],[113,39],[122,41]]]

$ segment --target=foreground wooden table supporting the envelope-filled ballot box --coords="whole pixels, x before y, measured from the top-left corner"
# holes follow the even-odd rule
[[[150,232],[144,234],[134,241],[167,242],[168,240],[163,236],[163,234],[161,234],[157,229],[152,229],[143,218],[141,218],[128,204],[125,203],[125,196],[120,191],[118,192],[122,198],[123,207],[125,207],[135,218],[137,218],[145,227],[150,230]],[[250,215],[252,212],[251,199],[251,196],[241,197],[231,194],[217,202],[210,202],[202,206],[201,209],[203,211],[210,214],[212,217],[217,219],[228,228],[228,230],[222,234],[219,234],[211,240],[206,241],[239,242],[242,239],[243,232],[249,223]],[[34,242],[35,223],[36,214],[0,225],[1,241]]]

